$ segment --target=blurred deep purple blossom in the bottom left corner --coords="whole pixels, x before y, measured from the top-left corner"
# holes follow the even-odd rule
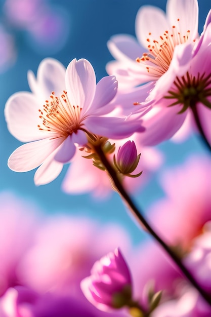
[[[38,294],[23,287],[10,288],[0,298],[1,317],[97,317],[92,306],[62,294]]]

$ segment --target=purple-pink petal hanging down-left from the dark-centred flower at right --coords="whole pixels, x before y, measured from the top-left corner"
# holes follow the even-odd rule
[[[168,100],[161,99],[159,106],[154,106],[146,116],[142,117],[142,124],[146,130],[140,134],[139,141],[143,146],[156,145],[170,139],[182,126],[186,112],[178,114],[180,107],[167,107],[167,104]]]

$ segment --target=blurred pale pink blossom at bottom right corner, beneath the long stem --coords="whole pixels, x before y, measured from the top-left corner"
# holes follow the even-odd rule
[[[195,289],[184,288],[179,299],[173,299],[159,305],[152,317],[209,317],[211,308],[199,296]]]

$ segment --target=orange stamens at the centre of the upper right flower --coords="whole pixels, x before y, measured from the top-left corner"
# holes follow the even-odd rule
[[[177,20],[178,22],[180,19]],[[146,65],[147,72],[155,78],[162,76],[171,64],[174,49],[177,45],[188,41],[190,30],[186,34],[181,34],[178,27],[173,25],[171,31],[165,31],[159,39],[151,38],[151,32],[147,38],[149,43],[149,53],[144,53],[141,58],[137,58],[138,63]]]

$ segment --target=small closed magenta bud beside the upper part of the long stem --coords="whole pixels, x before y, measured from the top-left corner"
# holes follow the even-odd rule
[[[117,170],[126,176],[137,177],[137,175],[130,175],[137,168],[140,160],[141,153],[137,155],[137,149],[134,141],[127,141],[124,145],[120,146],[117,153],[117,158],[114,155],[114,165]]]

